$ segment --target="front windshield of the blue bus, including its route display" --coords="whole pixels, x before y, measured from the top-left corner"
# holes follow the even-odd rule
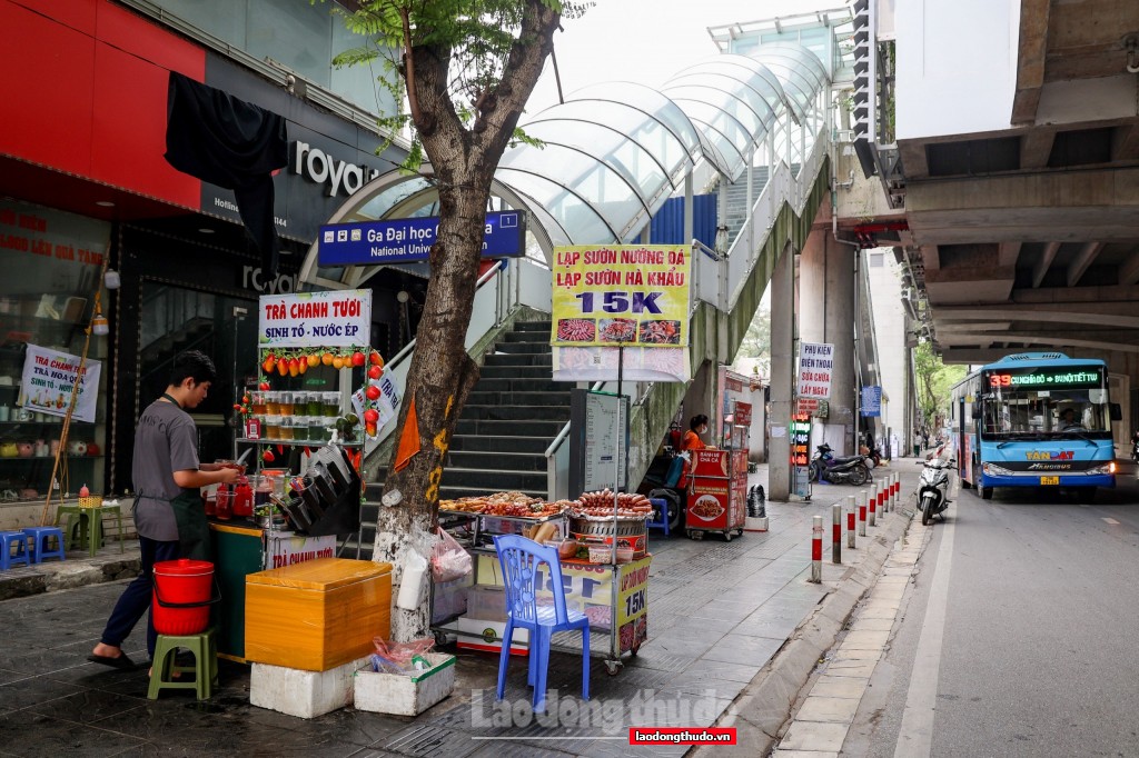
[[[985,373],[983,437],[1111,437],[1111,409],[1101,368],[1065,369],[1064,373],[1039,369]]]

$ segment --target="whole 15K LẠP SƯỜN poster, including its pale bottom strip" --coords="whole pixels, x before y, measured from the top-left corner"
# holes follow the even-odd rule
[[[688,245],[554,248],[554,379],[687,381]]]

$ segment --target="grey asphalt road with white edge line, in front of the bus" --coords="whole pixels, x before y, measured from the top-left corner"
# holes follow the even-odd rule
[[[844,755],[1139,756],[1139,481],[958,493]]]

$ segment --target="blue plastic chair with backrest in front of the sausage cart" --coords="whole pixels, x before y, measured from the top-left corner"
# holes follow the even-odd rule
[[[546,675],[550,667],[550,637],[555,632],[581,629],[582,675],[581,699],[589,700],[589,617],[566,608],[565,585],[562,583],[562,561],[557,547],[544,547],[533,539],[517,535],[494,537],[506,584],[506,631],[502,633],[502,654],[499,658],[498,700],[506,691],[506,668],[510,662],[510,640],[515,627],[530,631],[530,674],[526,684],[534,687],[534,712],[546,710]],[[554,592],[552,605],[538,603],[538,567],[546,563]]]

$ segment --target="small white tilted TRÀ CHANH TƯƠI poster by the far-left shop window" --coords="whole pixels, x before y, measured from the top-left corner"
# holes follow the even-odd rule
[[[38,345],[27,346],[24,359],[24,376],[21,385],[22,405],[28,411],[49,415],[67,415],[72,402],[72,390],[79,376],[80,356]],[[99,402],[99,372],[103,364],[88,360],[83,377],[79,381],[79,398],[75,401],[73,419],[95,421]]]

